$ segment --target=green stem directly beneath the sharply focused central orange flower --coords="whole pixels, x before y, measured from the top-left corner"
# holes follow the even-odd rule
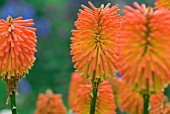
[[[97,92],[98,92],[98,84],[96,84],[96,86],[93,85],[91,105],[90,105],[90,114],[95,114]]]

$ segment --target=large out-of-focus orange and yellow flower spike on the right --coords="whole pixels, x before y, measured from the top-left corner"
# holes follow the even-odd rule
[[[134,6],[124,9],[118,69],[133,90],[159,92],[170,82],[170,12]]]

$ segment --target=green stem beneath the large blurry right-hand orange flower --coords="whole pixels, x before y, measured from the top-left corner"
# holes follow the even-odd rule
[[[144,94],[143,95],[143,100],[144,100],[144,103],[143,103],[143,107],[144,107],[144,110],[143,110],[143,114],[149,114],[149,95],[148,94]]]

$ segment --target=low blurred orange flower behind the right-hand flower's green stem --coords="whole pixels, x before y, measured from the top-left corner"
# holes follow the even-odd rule
[[[139,92],[132,91],[128,86],[125,85],[123,80],[120,80],[120,98],[124,110],[130,114],[143,114],[143,97]],[[150,97],[150,113],[149,114],[162,114],[159,112],[158,108],[162,106],[163,96],[162,92],[157,94],[152,94]],[[119,107],[122,109],[122,107]],[[161,109],[162,110],[162,109]],[[123,111],[123,110],[122,110]],[[151,113],[152,112],[152,113]],[[155,113],[154,113],[155,112]],[[166,113],[165,113],[166,114]]]

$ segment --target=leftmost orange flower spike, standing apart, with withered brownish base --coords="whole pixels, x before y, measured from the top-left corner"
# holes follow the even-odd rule
[[[0,71],[10,94],[35,61],[36,34],[33,20],[22,17],[0,20]]]

